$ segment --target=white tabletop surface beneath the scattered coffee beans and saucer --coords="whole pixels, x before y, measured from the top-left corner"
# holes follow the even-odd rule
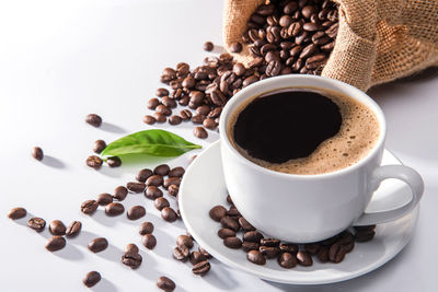
[[[327,285],[293,287],[270,283],[212,260],[204,278],[192,275],[189,264],[175,261],[172,247],[184,232],[182,222],[170,224],[142,196],[130,196],[130,207],[146,201],[143,219],[155,224],[158,246],[141,248],[143,264],[131,271],[119,262],[124,246],[140,245],[139,222],[125,217],[93,217],[80,203],[134,178],[137,170],[158,160],[103,167],[84,165],[96,139],[112,141],[138,130],[148,113],[161,70],[186,61],[201,63],[205,40],[221,43],[220,0],[76,0],[0,2],[0,291],[87,291],[81,283],[90,270],[103,281],[93,291],[157,291],[155,280],[174,279],[177,291],[437,291],[438,260],[438,79],[430,71],[416,81],[396,82],[370,92],[388,119],[388,149],[424,177],[426,192],[412,242],[392,261],[364,277]],[[428,75],[429,74],[429,75]],[[100,114],[96,129],[83,119]],[[169,126],[159,126],[168,128]],[[186,139],[186,125],[171,128]],[[41,145],[43,163],[30,156]],[[194,153],[193,153],[194,154]],[[191,153],[170,161],[188,164]],[[172,202],[174,203],[174,202]],[[49,236],[25,226],[26,220],[5,218],[9,209],[24,206],[47,221],[83,222],[82,234],[58,253],[45,250]],[[87,243],[105,236],[111,246],[92,254]]]

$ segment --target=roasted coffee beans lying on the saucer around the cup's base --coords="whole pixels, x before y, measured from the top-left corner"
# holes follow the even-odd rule
[[[230,196],[227,201],[229,209],[219,205],[209,211],[210,218],[220,222],[218,236],[227,247],[242,248],[246,253],[246,259],[255,265],[265,265],[266,259],[277,259],[278,265],[286,269],[297,265],[309,267],[313,265],[312,257],[316,257],[320,262],[338,264],[353,250],[355,242],[371,241],[376,234],[376,225],[369,225],[354,227],[355,233],[346,230],[319,243],[285,243],[276,238],[265,238],[240,214]]]

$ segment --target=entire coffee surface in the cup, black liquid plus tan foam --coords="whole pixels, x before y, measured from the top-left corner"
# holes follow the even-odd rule
[[[250,161],[289,174],[324,174],[354,165],[380,135],[376,114],[327,90],[293,87],[254,96],[231,116],[227,135]]]

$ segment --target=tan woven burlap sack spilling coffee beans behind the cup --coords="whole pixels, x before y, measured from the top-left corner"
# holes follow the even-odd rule
[[[339,4],[336,45],[322,75],[370,86],[438,66],[438,0],[334,0]],[[246,21],[265,0],[226,0],[226,47],[240,42]],[[247,48],[235,56],[251,59]]]

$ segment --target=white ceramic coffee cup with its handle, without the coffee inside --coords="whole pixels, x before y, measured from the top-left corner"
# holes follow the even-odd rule
[[[380,136],[374,148],[346,168],[318,175],[286,174],[262,167],[245,159],[229,141],[230,117],[249,98],[285,87],[318,87],[339,92],[367,105],[378,117]],[[242,215],[265,234],[293,243],[328,238],[351,225],[370,225],[396,220],[419,202],[424,183],[404,165],[380,166],[387,124],[380,107],[360,90],[337,80],[303,74],[275,77],[237,93],[220,117],[223,173],[228,191]],[[410,185],[408,203],[392,210],[365,212],[372,194],[387,178]],[[394,195],[396,196],[396,195]]]

